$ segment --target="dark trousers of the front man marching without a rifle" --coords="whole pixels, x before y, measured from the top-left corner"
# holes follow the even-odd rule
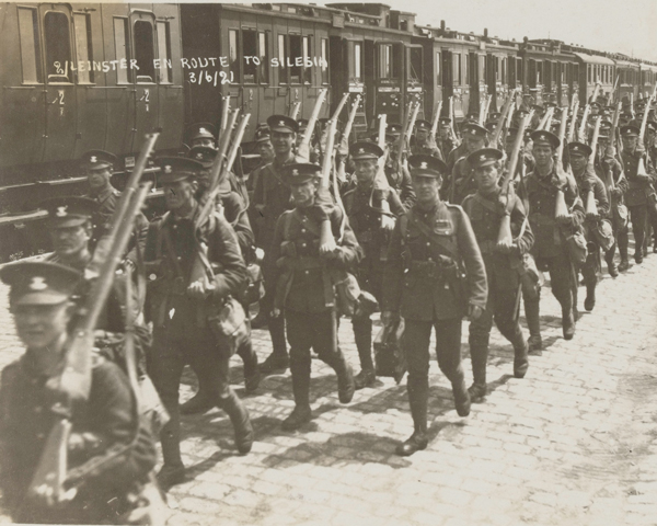
[[[404,320],[402,348],[408,366],[408,402],[415,431],[427,428],[427,400],[429,396],[429,340],[431,328],[436,331],[438,367],[452,388],[463,384],[461,364],[461,318],[448,320]]]

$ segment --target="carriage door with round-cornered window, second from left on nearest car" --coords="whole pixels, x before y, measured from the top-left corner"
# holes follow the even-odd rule
[[[143,136],[158,128],[159,93],[155,75],[155,18],[150,11],[132,10],[132,56],[127,67],[134,79],[135,128],[132,151],[141,148]],[[120,64],[119,64],[120,67]]]

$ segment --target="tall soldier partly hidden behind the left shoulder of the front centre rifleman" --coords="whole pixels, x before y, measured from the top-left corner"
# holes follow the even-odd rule
[[[257,221],[257,238],[255,244],[265,251],[265,297],[261,301],[261,311],[253,320],[254,327],[262,327],[264,320],[272,335],[272,354],[261,364],[261,373],[267,375],[274,370],[285,370],[289,366],[287,342],[285,340],[285,319],[283,316],[272,318],[276,282],[269,276],[275,261],[269,261],[269,249],[274,239],[276,221],[280,215],[291,208],[291,195],[288,185],[283,183],[283,168],[287,164],[299,162],[293,152],[293,145],[298,136],[298,124],[293,118],[285,115],[272,115],[267,119],[270,130],[270,140],[276,158],[274,161],[260,169],[258,179],[253,192],[254,215],[260,216]],[[263,320],[264,318],[264,320]]]

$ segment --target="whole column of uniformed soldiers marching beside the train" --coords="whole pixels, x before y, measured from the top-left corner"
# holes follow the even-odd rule
[[[596,112],[600,110],[604,115],[606,108]],[[491,144],[489,130],[472,119],[462,124],[461,138],[452,136],[448,117],[438,121],[438,137],[433,136],[430,123],[418,121],[412,145],[402,126],[390,124],[383,149],[377,145],[383,139],[379,137],[356,140],[349,146],[347,165],[353,165],[353,173],[334,196],[323,191],[319,164],[322,156],[331,152],[321,151],[323,146],[316,134],[310,159],[298,157],[300,126],[308,123],[285,115],[273,115],[266,126],[258,126],[255,142],[261,165],[252,171],[249,181],[230,172],[218,192],[212,193],[209,187],[209,171],[217,155],[210,126],[195,128],[186,157],[155,159],[168,211],[150,225],[142,215],[137,216],[122,261],[124,272],[113,284],[96,331],[96,345],[105,353],[94,358],[101,365],[93,369],[93,381],[103,387],[92,390],[90,403],[100,403],[96,397],[104,397],[115,401],[116,407],[103,405],[91,420],[73,419],[69,454],[71,459],[80,456],[87,460],[102,456],[112,444],[125,442],[125,434],[119,432],[122,425],[135,425],[130,405],[135,400],[120,367],[125,361],[122,348],[127,322],[139,336],[139,374],[152,377],[169,420],[162,422],[161,428],[145,427],[140,447],[127,447],[131,460],[126,464],[126,472],[114,467],[107,469],[105,478],[90,477],[89,484],[62,507],[68,515],[62,515],[61,522],[93,522],[97,517],[89,515],[92,513],[100,513],[104,519],[115,517],[117,510],[106,505],[112,501],[106,499],[108,494],[120,496],[113,506],[123,506],[120,512],[125,513],[132,502],[128,494],[148,485],[155,464],[153,438],[158,433],[163,454],[160,485],[169,488],[183,481],[181,413],[221,408],[233,425],[238,451],[247,454],[255,436],[246,408],[229,385],[233,353],[244,363],[247,392],[258,388],[263,375],[290,368],[295,409],[281,425],[287,431],[298,430],[312,419],[311,348],[335,370],[342,403],[350,402],[356,389],[374,385],[370,307],[378,302],[384,327],[404,322],[401,346],[408,370],[414,431],[396,453],[407,456],[426,448],[429,439],[433,329],[437,334],[438,365],[451,382],[461,416],[470,413],[472,402],[485,400],[493,321],[514,348],[515,377],[525,377],[528,356],[542,351],[540,286],[535,283],[539,279],[528,285],[527,277],[532,268],[538,268],[537,273],[550,272],[552,293],[562,307],[563,335],[566,340],[574,338],[579,272],[586,285],[585,310],[591,311],[596,304],[601,273],[600,220],[609,219],[613,227],[613,242],[602,254],[613,277],[630,266],[627,209],[636,264],[648,253],[648,227],[657,231],[657,123],[648,123],[647,141],[639,144],[638,123],[623,122],[619,128],[620,151],[615,137],[607,135],[610,128],[602,126],[595,159],[590,159],[592,145],[585,141],[562,145],[550,129],[523,132],[518,170],[509,175],[505,173],[505,160],[508,162],[514,155],[511,146],[520,133],[518,122],[526,114],[523,110],[516,112],[515,124],[505,130],[506,138],[500,144]],[[498,118],[500,123],[504,119],[502,115]],[[560,147],[566,151],[567,162],[560,162]],[[60,367],[67,327],[80,305],[78,297],[84,297],[89,289],[89,285],[80,284],[93,282],[105,256],[104,237],[120,195],[111,183],[114,162],[114,156],[100,150],[83,156],[89,196],[54,198],[44,204],[49,215],[53,254],[39,263],[9,265],[0,273],[11,286],[11,310],[19,336],[27,347],[25,356],[3,371],[2,424],[13,425],[18,415],[44,410],[46,395],[31,386],[36,382],[38,389],[47,391],[43,379]],[[505,185],[505,178],[511,184]],[[596,202],[597,215],[585,210],[584,199],[589,195]],[[567,214],[558,215],[561,196]],[[203,216],[208,199],[214,199],[209,204],[211,213]],[[502,240],[499,231],[506,221],[511,237]],[[324,224],[333,238],[332,248],[326,250],[322,247]],[[569,249],[577,235],[586,239],[588,255],[584,263],[576,261]],[[250,333],[249,309],[253,299],[246,299],[245,290],[253,285],[253,276],[247,267],[260,261],[257,254],[262,253],[264,297],[255,298],[260,299],[260,312],[254,322],[268,327],[272,353],[258,365],[250,338],[239,345],[227,344],[217,336],[211,320],[217,308],[223,308],[233,298],[246,313]],[[199,260],[209,274],[198,272]],[[369,307],[356,301],[351,310],[360,362],[358,375],[353,375],[337,340],[339,287],[345,273],[356,276],[357,288],[372,297]],[[136,286],[135,298],[128,297],[126,290],[130,287],[125,284],[132,274],[137,276],[136,284],[148,278],[146,295]],[[521,297],[529,341],[519,324]],[[461,358],[464,318],[470,320],[470,387]],[[199,390],[180,405],[185,365],[195,371]],[[19,399],[19,392],[30,395]],[[105,416],[105,410],[111,414]],[[44,499],[41,504],[45,507],[25,505],[34,459],[43,447],[43,433],[35,432],[44,425],[39,422],[37,425],[27,419],[16,424],[18,431],[1,436],[3,469],[21,466],[16,468],[15,483],[4,493],[10,495],[16,517],[39,518],[51,504]],[[36,441],[19,444],[21,433],[35,436]],[[114,438],[101,447],[94,433]],[[23,462],[27,458],[31,460]],[[102,482],[96,484],[95,479]],[[115,480],[123,481],[122,485],[117,487]],[[101,501],[104,504],[97,504]]]

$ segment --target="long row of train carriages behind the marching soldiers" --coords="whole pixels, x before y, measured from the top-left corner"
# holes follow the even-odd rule
[[[512,89],[565,105],[599,83],[602,95],[615,85],[615,100],[637,100],[657,79],[656,62],[431,27],[381,3],[7,3],[0,27],[0,261],[37,249],[25,233],[38,228],[43,198],[82,192],[74,161],[84,151],[116,153],[120,179],[145,134],[177,151],[188,125],[219,124],[222,96],[251,114],[249,141],[296,103],[308,118],[322,89],[320,116],[343,93],[361,94],[358,134],[382,113],[401,122],[411,98],[430,118],[451,96],[462,119],[484,94],[491,111]]]

